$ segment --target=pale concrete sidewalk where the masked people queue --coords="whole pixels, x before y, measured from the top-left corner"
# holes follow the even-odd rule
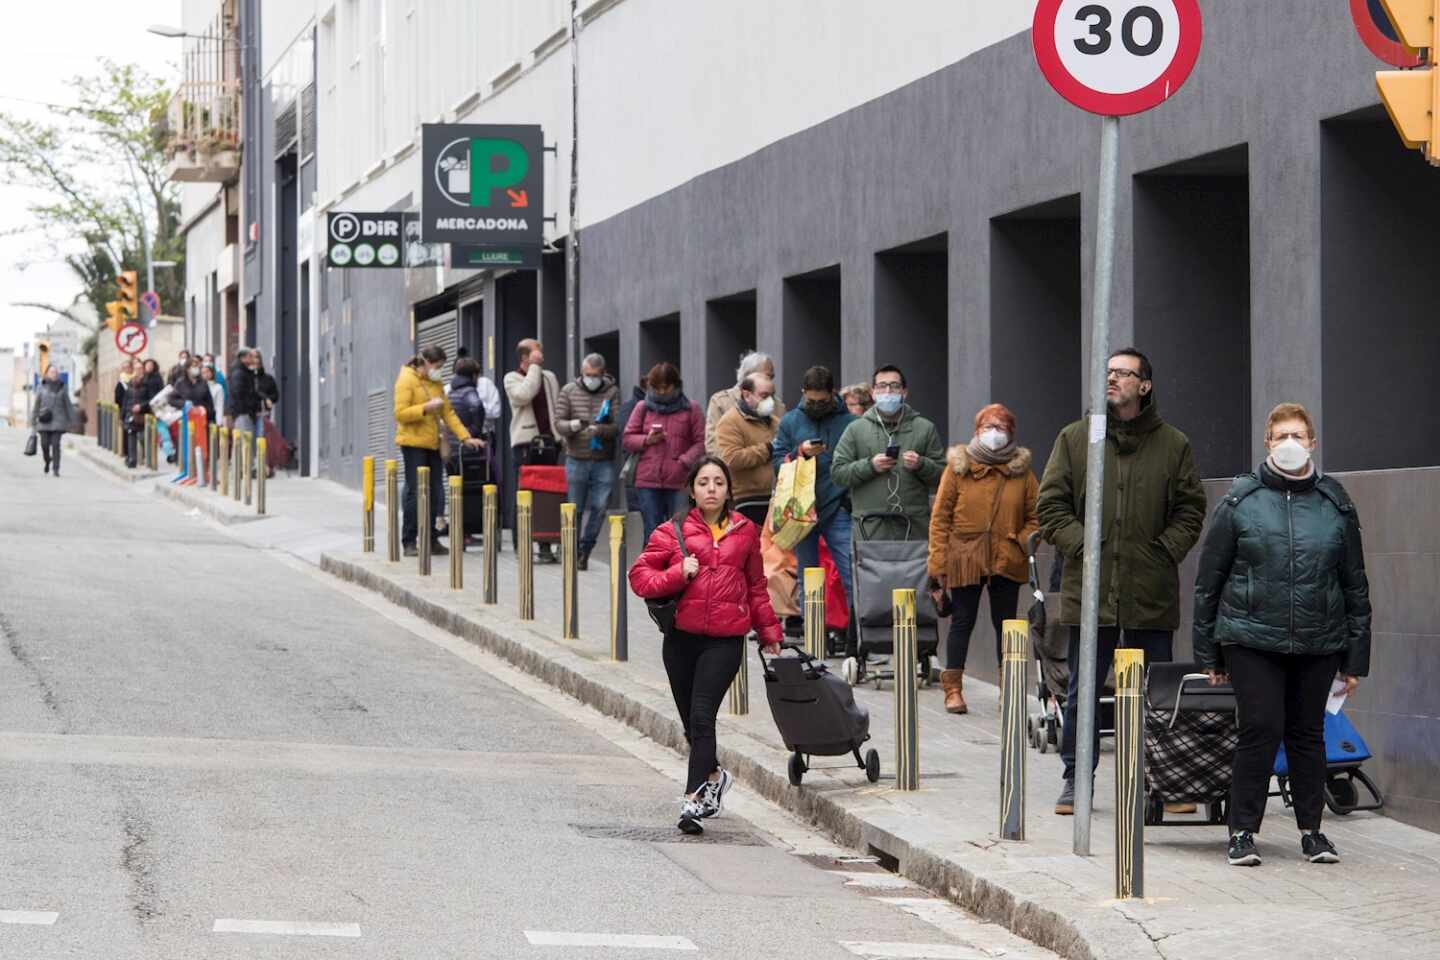
[[[193,491],[197,497],[213,497]],[[422,617],[490,649],[521,669],[683,750],[660,640],[644,604],[629,597],[626,664],[609,661],[609,574],[602,543],[580,574],[579,640],[560,639],[560,571],[536,567],[537,619],[517,617],[517,567],[501,553],[500,599],[480,602],[481,557],[465,557],[465,589],[448,586],[448,561],[420,577],[415,560],[384,560],[377,508],[377,553],[359,553],[360,495],[325,481],[278,479],[265,522],[229,527],[255,545],[320,563],[374,589]],[[508,538],[507,538],[508,540]],[[631,548],[634,557],[636,548]],[[626,594],[628,596],[628,594]],[[984,629],[984,628],[978,628]],[[750,652],[750,714],[720,718],[721,763],[747,787],[811,819],[837,839],[873,849],[906,877],[986,920],[1067,957],[1221,957],[1420,960],[1437,956],[1440,836],[1356,813],[1328,818],[1325,830],[1344,862],[1306,864],[1293,818],[1273,802],[1260,868],[1228,866],[1224,829],[1176,826],[1146,833],[1145,901],[1113,900],[1113,754],[1106,741],[1097,776],[1094,856],[1071,855],[1070,818],[1051,813],[1060,787],[1054,754],[1028,753],[1027,841],[1002,842],[999,818],[998,691],[966,685],[971,714],[943,712],[939,689],[920,691],[920,786],[893,789],[893,687],[857,689],[871,712],[871,746],[881,754],[878,784],[837,759],[812,770],[802,787],[786,779],[788,754],[770,721],[756,653]],[[827,764],[824,760],[816,760]]]

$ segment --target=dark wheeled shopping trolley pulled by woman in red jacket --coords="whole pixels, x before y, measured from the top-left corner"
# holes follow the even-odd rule
[[[791,784],[799,786],[809,771],[811,757],[855,757],[855,766],[871,783],[880,780],[880,753],[860,747],[870,740],[870,711],[855,702],[848,684],[829,672],[824,662],[805,652],[799,643],[785,643],[798,656],[765,658],[765,697],[770,715],[791,751]]]

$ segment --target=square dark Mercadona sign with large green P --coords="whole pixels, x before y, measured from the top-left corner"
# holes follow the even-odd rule
[[[540,246],[540,127],[425,124],[420,142],[420,236],[426,243]]]

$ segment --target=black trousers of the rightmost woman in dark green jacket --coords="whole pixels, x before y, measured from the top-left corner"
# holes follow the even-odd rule
[[[1341,655],[1270,653],[1236,645],[1227,645],[1224,653],[1240,718],[1240,746],[1230,782],[1231,832],[1260,832],[1282,740],[1290,764],[1295,822],[1302,830],[1320,829],[1325,701],[1341,668]]]

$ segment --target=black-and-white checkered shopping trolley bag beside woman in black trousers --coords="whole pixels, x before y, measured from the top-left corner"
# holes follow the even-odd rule
[[[1152,664],[1145,674],[1145,822],[1165,823],[1166,803],[1204,806],[1224,823],[1240,727],[1236,692],[1211,687],[1195,664]]]

